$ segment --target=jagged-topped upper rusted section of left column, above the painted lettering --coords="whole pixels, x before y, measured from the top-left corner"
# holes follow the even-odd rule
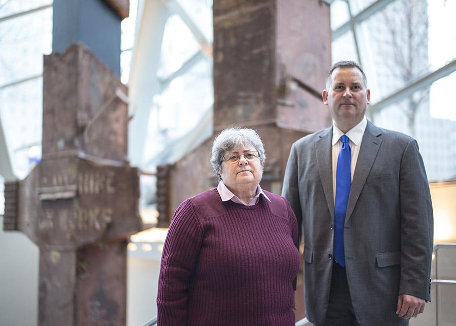
[[[127,156],[127,88],[87,48],[72,44],[45,56],[43,156],[78,150],[99,158]]]

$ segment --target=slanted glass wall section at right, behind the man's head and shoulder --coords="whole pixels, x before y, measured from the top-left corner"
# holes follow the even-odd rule
[[[331,5],[332,62],[361,63],[369,119],[418,141],[430,181],[456,179],[456,104],[444,100],[456,82],[455,14],[454,0]]]

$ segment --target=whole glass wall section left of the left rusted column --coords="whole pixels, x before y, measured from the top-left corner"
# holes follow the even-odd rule
[[[43,54],[52,48],[51,4],[0,0],[0,119],[18,178],[28,174],[36,146],[41,148]]]

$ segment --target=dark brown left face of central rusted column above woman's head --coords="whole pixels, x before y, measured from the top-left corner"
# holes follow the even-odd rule
[[[275,117],[274,1],[214,1],[214,126]]]

